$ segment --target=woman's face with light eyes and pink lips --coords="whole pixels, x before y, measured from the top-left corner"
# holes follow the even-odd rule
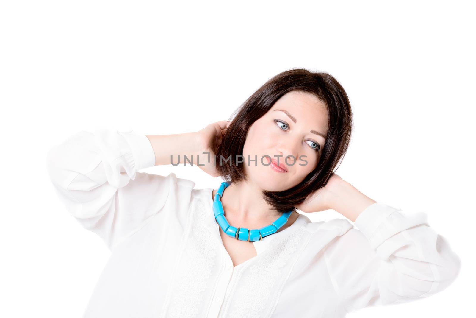
[[[325,147],[327,120],[325,104],[312,94],[291,91],[278,99],[248,130],[243,165],[250,182],[268,191],[299,184],[317,166]],[[279,159],[288,171],[273,169],[265,155]],[[256,156],[257,162],[248,164],[248,156]]]

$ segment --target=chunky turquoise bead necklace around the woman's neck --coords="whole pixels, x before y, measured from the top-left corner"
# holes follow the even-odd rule
[[[246,229],[246,228],[235,228],[231,226],[227,219],[225,219],[225,213],[223,211],[223,205],[221,204],[220,198],[223,196],[223,191],[227,188],[231,182],[222,182],[220,187],[215,193],[215,198],[213,199],[213,213],[215,214],[215,220],[217,221],[220,228],[225,232],[228,236],[239,239],[240,241],[260,241],[262,238],[276,233],[278,229],[280,229],[283,225],[288,222],[288,218],[293,212],[290,210],[286,213],[283,213],[276,221],[273,223],[261,228],[261,229]]]

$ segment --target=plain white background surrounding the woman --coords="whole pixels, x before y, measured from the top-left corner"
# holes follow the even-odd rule
[[[332,3],[332,4],[330,4]],[[59,199],[46,153],[79,131],[197,131],[303,67],[355,116],[337,174],[428,213],[462,259],[432,297],[348,317],[468,317],[475,285],[474,10],[469,1],[3,1],[1,317],[80,317],[109,258]],[[218,188],[198,167],[149,173]],[[344,218],[336,211],[312,221]],[[472,296],[471,296],[471,295]]]

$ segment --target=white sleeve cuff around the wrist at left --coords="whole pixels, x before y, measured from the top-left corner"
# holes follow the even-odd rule
[[[137,171],[155,166],[155,153],[149,138],[145,135],[135,133],[132,130],[118,130],[118,133],[122,135],[129,144],[136,162]]]

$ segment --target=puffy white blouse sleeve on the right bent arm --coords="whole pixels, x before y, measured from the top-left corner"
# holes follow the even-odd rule
[[[424,212],[376,202],[327,245],[331,281],[347,312],[436,294],[458,276],[461,260]]]

